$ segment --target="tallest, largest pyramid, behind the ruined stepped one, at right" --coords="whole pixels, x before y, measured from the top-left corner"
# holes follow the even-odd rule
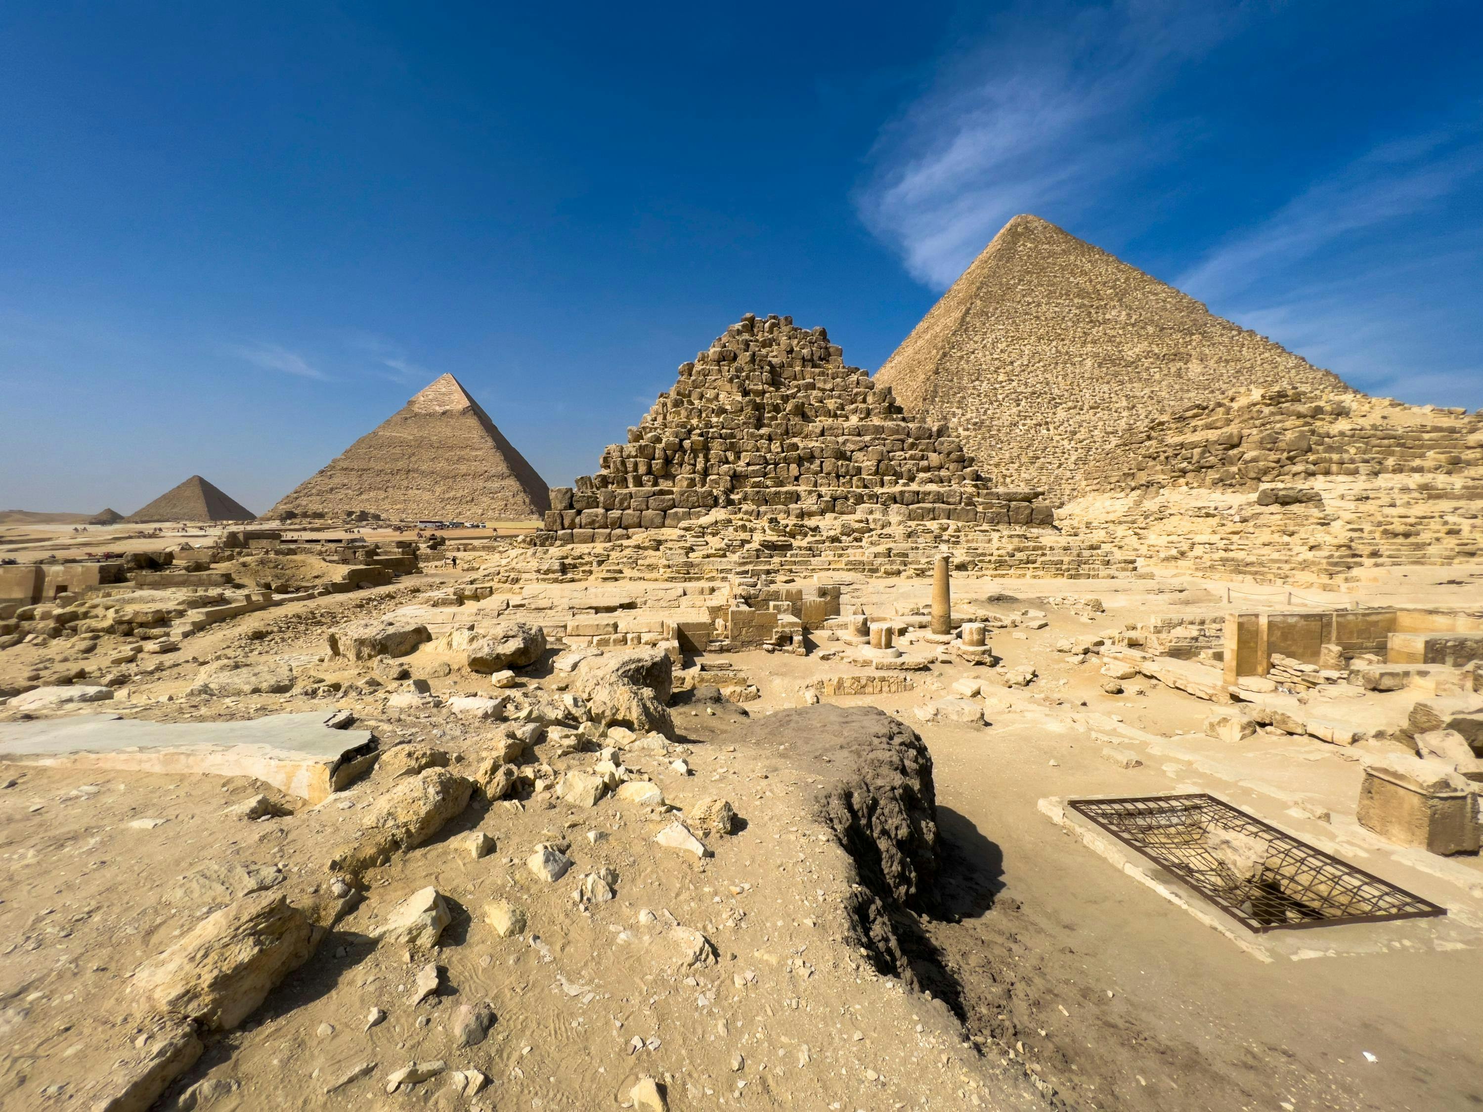
[[[1016,216],[875,374],[952,421],[1000,482],[1086,492],[1130,428],[1243,387],[1352,393],[1338,375],[1038,216]]]

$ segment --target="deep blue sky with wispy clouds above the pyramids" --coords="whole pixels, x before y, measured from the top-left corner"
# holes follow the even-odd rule
[[[1477,3],[12,0],[0,509],[264,510],[445,371],[567,483],[744,311],[879,366],[1016,212],[1477,408],[1480,47]]]

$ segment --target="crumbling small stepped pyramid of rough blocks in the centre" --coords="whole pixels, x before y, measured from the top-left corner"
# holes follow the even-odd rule
[[[946,423],[908,415],[823,328],[746,314],[610,446],[552,491],[552,543],[626,540],[722,509],[1050,525],[1035,491],[992,488]]]

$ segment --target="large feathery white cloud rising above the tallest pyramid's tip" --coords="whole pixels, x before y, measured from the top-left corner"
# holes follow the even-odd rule
[[[914,277],[946,288],[1010,216],[1068,219],[1172,153],[1180,125],[1140,108],[1241,19],[1225,0],[1011,9],[882,129],[862,219]]]

